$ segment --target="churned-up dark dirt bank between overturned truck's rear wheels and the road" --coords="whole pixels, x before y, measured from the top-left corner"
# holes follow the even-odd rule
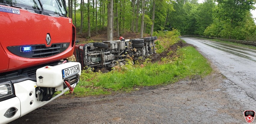
[[[182,42],[182,40],[180,40],[178,43],[175,43],[174,45],[170,46],[169,49],[167,49],[166,51],[160,53],[160,54],[153,54],[153,56],[150,58],[152,63],[155,63],[159,60],[161,60],[161,58],[163,57],[167,57],[167,53],[169,53],[170,51],[173,51],[171,55],[169,55],[169,57],[172,57],[175,52],[177,51],[177,47],[184,47],[184,46],[190,46],[190,44],[188,43],[184,43]]]

